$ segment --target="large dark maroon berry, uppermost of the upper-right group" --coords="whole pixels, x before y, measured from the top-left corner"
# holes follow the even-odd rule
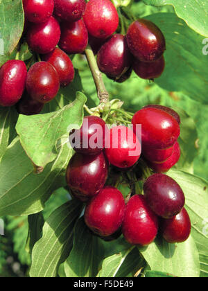
[[[131,53],[141,62],[158,60],[166,49],[162,31],[146,19],[134,21],[129,26],[126,37]]]

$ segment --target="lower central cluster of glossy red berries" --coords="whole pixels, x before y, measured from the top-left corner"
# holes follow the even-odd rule
[[[112,240],[123,233],[133,245],[152,243],[159,229],[169,243],[189,238],[191,222],[184,209],[184,193],[171,177],[150,175],[144,182],[144,195],[133,195],[127,204],[118,189],[106,184],[110,166],[134,170],[143,151],[148,158],[146,148],[150,157],[164,159],[166,149],[177,143],[179,123],[173,109],[151,105],[133,116],[133,130],[124,125],[109,130],[103,119],[87,116],[82,127],[69,134],[76,153],[67,167],[67,185],[74,197],[87,202],[85,223],[96,235]],[[135,130],[136,125],[141,125],[141,132]]]

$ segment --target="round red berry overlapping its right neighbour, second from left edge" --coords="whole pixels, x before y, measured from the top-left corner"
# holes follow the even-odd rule
[[[34,100],[48,103],[58,94],[58,73],[49,62],[36,62],[28,71],[26,90]]]

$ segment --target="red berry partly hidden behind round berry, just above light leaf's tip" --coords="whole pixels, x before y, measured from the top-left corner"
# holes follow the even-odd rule
[[[53,65],[58,73],[60,86],[65,87],[73,81],[73,64],[67,53],[64,53],[60,48],[55,48],[51,53],[42,55],[42,60]]]

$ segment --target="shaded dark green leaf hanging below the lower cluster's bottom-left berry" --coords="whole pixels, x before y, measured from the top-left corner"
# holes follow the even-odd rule
[[[83,218],[74,227],[73,249],[64,263],[67,277],[95,277],[104,249],[98,237],[87,228]]]

